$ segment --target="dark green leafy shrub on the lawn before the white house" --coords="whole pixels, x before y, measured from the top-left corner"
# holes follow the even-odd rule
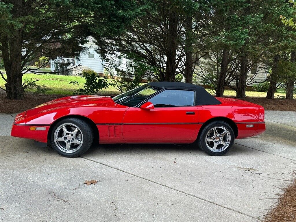
[[[100,77],[94,70],[82,70],[82,78],[85,78],[83,88],[74,91],[75,95],[94,95],[101,89],[106,89],[112,85],[107,80],[107,76]],[[79,86],[78,81],[71,81],[70,84]]]

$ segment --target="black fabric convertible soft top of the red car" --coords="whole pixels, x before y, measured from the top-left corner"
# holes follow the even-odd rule
[[[217,105],[221,102],[214,96],[209,94],[202,86],[181,83],[181,82],[151,82],[150,86],[165,88],[165,89],[187,89],[195,91],[195,105]]]

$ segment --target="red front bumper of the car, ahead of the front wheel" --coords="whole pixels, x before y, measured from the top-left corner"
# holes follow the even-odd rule
[[[32,125],[26,124],[13,124],[11,129],[11,136],[33,139],[41,143],[47,143],[47,135],[49,131],[48,125],[40,125],[37,127],[44,127],[45,130],[30,130],[30,127],[36,127]]]

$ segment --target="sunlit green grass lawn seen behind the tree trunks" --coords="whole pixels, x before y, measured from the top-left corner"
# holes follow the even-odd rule
[[[2,73],[4,73],[3,69],[0,69]],[[5,76],[5,75],[4,75]],[[6,76],[5,76],[6,77]],[[79,88],[83,87],[85,83],[85,79],[80,76],[67,76],[67,75],[54,75],[54,74],[32,74],[27,73],[22,77],[23,81],[28,79],[28,81],[39,80],[36,82],[38,85],[45,85],[49,91],[46,91],[45,94],[63,94],[63,95],[73,95],[73,92]],[[79,86],[74,86],[73,84],[69,84],[71,81],[78,81]],[[0,78],[0,87],[4,87],[4,80]],[[208,90],[208,89],[207,89]],[[211,94],[213,91],[208,90]],[[100,95],[116,95],[120,92],[114,88],[114,86],[110,86],[108,89],[103,89],[99,92]],[[275,93],[275,98],[280,98],[281,96],[285,96],[286,92],[284,89],[279,89]],[[235,96],[236,92],[234,90],[225,90],[225,96]],[[266,93],[264,92],[255,92],[255,91],[247,91],[247,96],[251,97],[266,97]]]

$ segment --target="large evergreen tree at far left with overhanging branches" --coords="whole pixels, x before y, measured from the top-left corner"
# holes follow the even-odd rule
[[[34,71],[27,62],[41,53],[77,56],[88,36],[121,32],[141,7],[133,0],[4,0],[0,13],[4,90],[9,99],[24,99],[22,75]]]

